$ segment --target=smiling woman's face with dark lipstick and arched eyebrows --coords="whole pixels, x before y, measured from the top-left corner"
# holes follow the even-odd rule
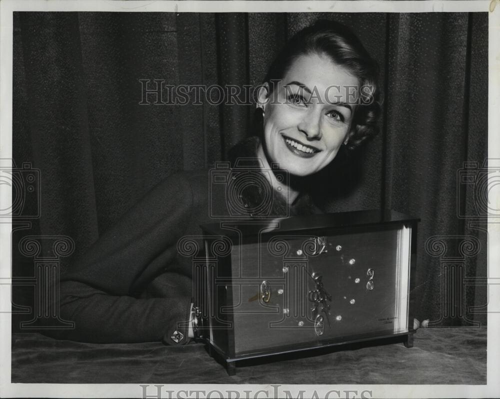
[[[326,56],[297,57],[274,92],[259,95],[270,161],[297,176],[328,165],[349,136],[357,85],[357,78]]]

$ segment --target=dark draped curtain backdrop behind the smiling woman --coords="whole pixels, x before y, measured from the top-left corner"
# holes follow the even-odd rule
[[[63,272],[161,179],[223,160],[249,134],[252,106],[139,105],[139,79],[257,85],[286,38],[317,18],[353,28],[380,64],[384,98],[380,134],[313,181],[327,187],[324,205],[420,217],[416,316],[485,322],[486,287],[477,285],[487,276],[485,226],[457,217],[475,214],[473,185],[457,183],[457,171],[487,156],[486,12],[15,12],[13,158],[39,169],[40,212],[12,234],[13,276],[33,275],[33,259],[18,251],[23,237],[74,240]],[[441,247],[425,249],[433,236],[446,236],[441,257]],[[478,254],[463,256],[457,236],[478,238]],[[445,258],[465,267],[451,286]],[[18,287],[13,302],[32,306],[32,296]],[[13,329],[30,318],[16,315]]]

